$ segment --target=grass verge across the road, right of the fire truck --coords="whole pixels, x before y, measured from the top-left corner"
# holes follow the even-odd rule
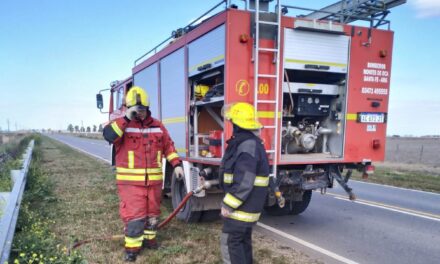
[[[440,174],[436,172],[392,165],[375,166],[374,174],[367,180],[362,179],[362,174],[358,171],[353,171],[352,179],[440,193]]]

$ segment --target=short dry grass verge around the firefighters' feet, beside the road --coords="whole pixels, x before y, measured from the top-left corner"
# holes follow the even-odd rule
[[[40,204],[50,223],[48,239],[59,241],[62,250],[75,241],[122,234],[114,172],[109,165],[46,137],[41,150],[41,171],[50,179],[47,185],[52,190],[51,198]],[[40,210],[37,205],[35,209]],[[164,200],[162,216],[171,210],[170,201]],[[158,232],[159,250],[144,250],[137,262],[221,263],[220,230],[220,221],[185,224],[174,219]],[[51,247],[57,252],[57,246]],[[16,254],[20,254],[17,248]],[[73,251],[74,259],[68,262],[122,263],[123,254],[123,240],[92,242]],[[254,258],[255,263],[317,263],[258,233],[254,233]]]

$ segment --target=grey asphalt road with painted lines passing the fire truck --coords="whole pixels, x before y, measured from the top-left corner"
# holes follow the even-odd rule
[[[110,148],[102,140],[50,136],[109,161]],[[339,186],[326,195],[314,192],[303,214],[264,215],[257,228],[325,263],[440,263],[439,194],[349,185],[356,202]]]

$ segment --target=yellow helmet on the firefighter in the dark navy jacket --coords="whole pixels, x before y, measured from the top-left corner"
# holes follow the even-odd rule
[[[224,115],[227,120],[243,129],[256,130],[263,127],[256,118],[254,106],[249,103],[229,105],[225,108]]]

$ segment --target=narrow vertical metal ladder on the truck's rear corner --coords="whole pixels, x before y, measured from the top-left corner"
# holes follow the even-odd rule
[[[254,107],[258,116],[258,108],[259,105],[272,105],[275,109],[273,115],[273,125],[264,126],[264,129],[270,129],[274,131],[274,136],[272,137],[272,142],[270,144],[270,148],[266,150],[266,153],[272,156],[272,173],[269,175],[271,177],[277,176],[277,166],[276,162],[278,161],[278,151],[276,144],[278,142],[279,137],[279,129],[278,129],[278,109],[279,109],[279,65],[280,65],[280,34],[281,34],[281,5],[280,1],[276,2],[276,21],[267,21],[260,19],[260,1],[255,1],[255,35],[254,35]],[[262,48],[260,47],[260,26],[261,25],[270,25],[276,28],[276,38],[275,38],[275,47],[274,48]],[[274,72],[272,73],[260,73],[259,71],[259,61],[260,61],[260,53],[262,52],[271,52],[274,54]],[[275,80],[275,87],[273,88],[275,92],[275,100],[263,100],[259,96],[259,87],[261,80]]]

